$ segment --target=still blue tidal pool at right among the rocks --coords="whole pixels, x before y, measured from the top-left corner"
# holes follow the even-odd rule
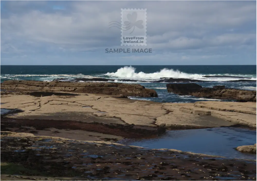
[[[157,138],[124,139],[118,143],[149,149],[177,149],[227,158],[257,160],[256,154],[241,153],[234,149],[238,146],[257,143],[257,131],[243,128],[173,130]]]

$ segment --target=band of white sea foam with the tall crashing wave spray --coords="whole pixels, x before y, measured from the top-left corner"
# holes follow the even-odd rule
[[[53,79],[65,78],[65,79],[74,79],[74,78],[99,78],[108,76],[111,79],[133,79],[140,81],[151,81],[159,80],[162,77],[167,78],[185,78],[185,79],[197,79],[197,80],[207,80],[207,81],[229,81],[229,80],[239,80],[244,78],[233,78],[233,77],[204,77],[205,75],[210,76],[238,76],[245,77],[245,79],[256,80],[256,75],[241,75],[241,74],[190,74],[181,72],[179,70],[167,69],[164,68],[160,71],[153,73],[144,73],[136,72],[136,69],[132,66],[124,66],[118,69],[116,72],[108,72],[106,74],[99,75],[84,75],[84,74],[2,74],[0,79],[24,79],[30,78],[33,80],[41,81],[52,81]],[[248,77],[248,78],[247,78]],[[121,81],[117,81],[121,82]],[[125,82],[123,82],[125,83]],[[129,82],[131,83],[131,82]]]

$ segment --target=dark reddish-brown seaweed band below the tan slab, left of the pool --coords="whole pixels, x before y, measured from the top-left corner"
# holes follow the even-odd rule
[[[93,119],[93,118],[92,118]],[[95,118],[97,119],[97,118]],[[36,134],[40,130],[49,130],[51,128],[62,130],[89,131],[102,133],[106,135],[115,135],[123,138],[150,138],[163,134],[165,128],[158,127],[141,127],[135,125],[120,125],[120,124],[104,124],[104,123],[86,123],[80,121],[65,121],[65,120],[42,120],[42,119],[0,119],[0,131],[26,132]],[[50,130],[49,130],[50,131]],[[57,135],[52,133],[52,135]],[[81,132],[83,134],[83,132]],[[108,138],[106,138],[108,139]]]

